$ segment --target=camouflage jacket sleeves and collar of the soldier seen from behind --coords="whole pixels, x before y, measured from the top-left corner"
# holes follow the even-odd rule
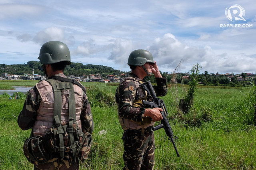
[[[56,74],[54,76],[61,76],[66,78],[64,74]],[[36,121],[36,116],[41,101],[42,98],[38,92],[38,89],[36,88],[36,86],[32,87],[28,91],[28,95],[26,97],[23,109],[18,116],[18,125],[22,130],[27,130],[33,127]],[[92,119],[92,112],[88,101],[88,97],[85,93],[83,94],[83,102],[84,104],[80,114],[82,128],[87,132],[92,133],[94,129],[94,122]]]

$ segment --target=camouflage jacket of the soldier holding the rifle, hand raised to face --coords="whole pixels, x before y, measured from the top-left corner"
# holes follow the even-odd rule
[[[129,74],[129,77],[120,82],[116,92],[118,114],[121,118],[142,122],[145,109],[142,107],[142,102],[138,101],[148,99],[145,98],[146,92],[142,88],[137,88],[136,84],[142,84],[145,81],[135,74]],[[165,96],[167,94],[166,77],[156,78],[156,84],[157,86],[153,86],[156,96]]]

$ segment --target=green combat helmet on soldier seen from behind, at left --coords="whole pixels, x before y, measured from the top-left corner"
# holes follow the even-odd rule
[[[71,64],[68,46],[60,41],[49,41],[44,43],[40,49],[39,57],[42,64],[53,64],[68,61]]]

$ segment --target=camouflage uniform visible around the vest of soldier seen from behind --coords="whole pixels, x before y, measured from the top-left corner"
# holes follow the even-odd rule
[[[54,76],[61,76],[66,78],[64,74],[56,74]],[[50,78],[49,78],[50,79]],[[83,94],[83,107],[80,114],[80,121],[82,129],[92,133],[94,129],[94,123],[92,119],[92,113],[90,104],[88,101],[88,97],[86,94]],[[42,98],[38,92],[38,89],[36,86],[31,88],[28,92],[26,101],[24,103],[23,109],[20,112],[20,115],[18,116],[18,125],[22,130],[30,129],[34,126],[34,123],[37,119],[37,113],[40,106],[40,102],[42,101]],[[53,115],[52,115],[53,117]],[[33,133],[32,133],[33,135]],[[76,159],[76,162],[72,162],[72,155],[69,155],[69,153],[64,154],[64,158],[61,158],[58,153],[53,155],[53,158],[46,162],[45,164],[35,164],[34,169],[35,170],[45,170],[45,169],[63,169],[63,170],[75,170],[79,169],[79,160]]]

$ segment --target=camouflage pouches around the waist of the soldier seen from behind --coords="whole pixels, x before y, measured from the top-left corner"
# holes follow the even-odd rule
[[[92,147],[92,135],[88,132],[82,132],[81,129],[72,130],[75,142],[71,145],[66,133],[67,126],[62,127],[63,133],[59,133],[62,130],[58,131],[57,128],[51,128],[44,137],[38,135],[26,139],[23,151],[27,160],[32,164],[44,164],[52,158],[53,153],[60,153],[60,156],[63,157],[64,152],[73,154],[73,160],[76,160],[76,157],[82,161],[86,160]],[[63,137],[63,147],[61,147],[62,142],[60,142],[59,134]]]

